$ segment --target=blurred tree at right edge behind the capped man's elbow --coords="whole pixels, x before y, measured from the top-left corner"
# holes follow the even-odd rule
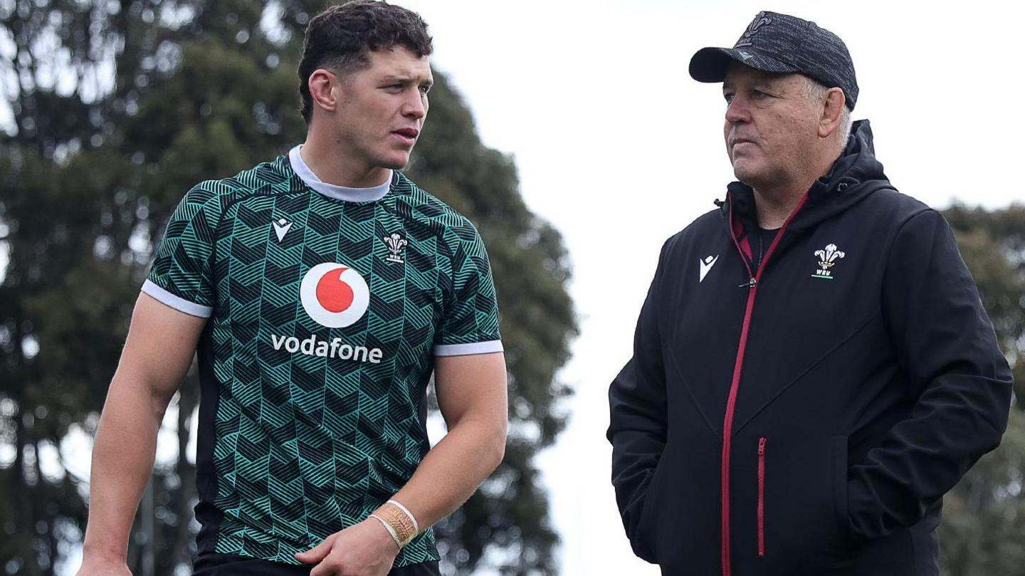
[[[944,498],[940,529],[946,576],[1020,574],[1025,565],[1025,206],[945,211],[1015,375],[1000,447]]]

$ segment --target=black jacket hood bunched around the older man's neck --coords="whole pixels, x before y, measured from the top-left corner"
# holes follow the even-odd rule
[[[812,229],[861,202],[878,190],[895,190],[883,171],[883,163],[875,158],[872,129],[868,120],[859,120],[851,127],[847,148],[833,162],[829,173],[820,177],[808,191],[808,199],[793,215],[788,229]],[[744,220],[754,218],[754,193],[751,187],[735,181],[727,187],[729,202],[736,215]],[[734,224],[736,225],[736,223]]]

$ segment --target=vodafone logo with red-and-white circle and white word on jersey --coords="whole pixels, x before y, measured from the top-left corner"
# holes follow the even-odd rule
[[[337,262],[324,262],[310,269],[299,284],[299,299],[302,310],[315,322],[327,328],[345,328],[356,324],[370,305],[370,288],[360,273],[351,266]],[[340,338],[320,339],[312,335],[304,340],[295,336],[271,335],[274,349],[284,348],[290,353],[301,353],[321,358],[340,358],[379,364],[380,348],[353,346],[341,342]]]

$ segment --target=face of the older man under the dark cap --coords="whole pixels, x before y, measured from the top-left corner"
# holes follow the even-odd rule
[[[797,74],[769,74],[731,64],[723,82],[726,152],[733,172],[752,188],[806,176],[818,143],[820,102]]]

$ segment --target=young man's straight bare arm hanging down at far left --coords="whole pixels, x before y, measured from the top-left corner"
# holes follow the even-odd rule
[[[139,294],[92,450],[80,576],[127,574],[128,534],[153,470],[157,431],[206,319]]]

